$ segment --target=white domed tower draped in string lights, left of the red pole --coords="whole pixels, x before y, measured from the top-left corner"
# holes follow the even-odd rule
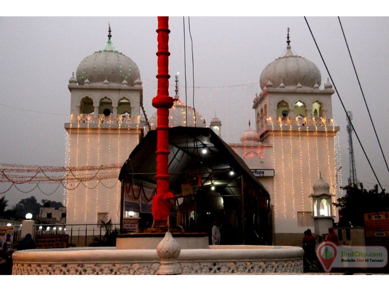
[[[68,165],[85,168],[72,173],[67,184],[68,224],[95,224],[109,219],[119,223],[118,172],[146,125],[141,118],[139,68],[115,49],[111,37],[109,28],[104,47],[80,62],[68,84]],[[98,165],[110,168],[96,169]]]

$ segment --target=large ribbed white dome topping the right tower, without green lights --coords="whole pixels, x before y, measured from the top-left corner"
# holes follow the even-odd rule
[[[321,74],[318,67],[311,61],[292,53],[287,41],[286,52],[282,57],[265,66],[261,73],[260,85],[264,89],[265,85],[272,84],[273,88],[296,88],[299,83],[301,88],[314,88],[315,84],[320,85]],[[299,85],[300,87],[300,85]]]

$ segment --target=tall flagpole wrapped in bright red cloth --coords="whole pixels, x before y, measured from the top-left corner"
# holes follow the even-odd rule
[[[169,156],[169,109],[173,98],[169,97],[169,17],[158,17],[158,90],[153,98],[153,107],[157,108],[157,194],[153,198],[151,212],[154,226],[166,225],[173,194],[169,191],[168,156]]]

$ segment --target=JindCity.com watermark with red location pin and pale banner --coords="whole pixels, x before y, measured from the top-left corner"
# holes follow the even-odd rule
[[[347,246],[322,242],[316,250],[325,272],[332,268],[383,268],[388,263],[388,250],[383,246]]]

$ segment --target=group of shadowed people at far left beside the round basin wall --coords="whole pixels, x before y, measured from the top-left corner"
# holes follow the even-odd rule
[[[12,274],[12,254],[14,249],[9,247],[7,242],[2,244],[0,249],[0,275]],[[35,242],[31,236],[31,233],[27,233],[25,237],[19,242],[17,250],[34,249]]]

